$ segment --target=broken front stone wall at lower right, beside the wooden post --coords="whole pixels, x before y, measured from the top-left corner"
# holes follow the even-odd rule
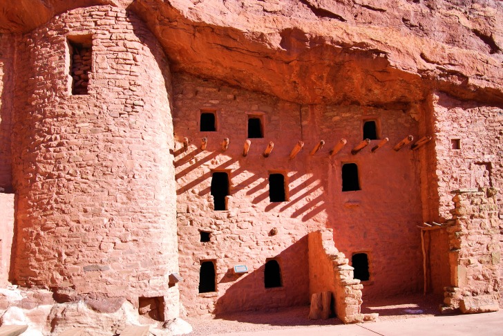
[[[498,310],[500,299],[500,221],[497,189],[454,192],[454,221],[449,222],[450,287],[444,310],[464,313]]]

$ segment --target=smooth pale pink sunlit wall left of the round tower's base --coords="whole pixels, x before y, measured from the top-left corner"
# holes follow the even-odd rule
[[[0,288],[8,285],[14,235],[14,194],[0,193]]]

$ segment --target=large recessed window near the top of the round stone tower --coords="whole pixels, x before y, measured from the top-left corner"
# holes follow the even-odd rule
[[[89,73],[92,71],[92,35],[68,36],[72,95],[87,95]]]

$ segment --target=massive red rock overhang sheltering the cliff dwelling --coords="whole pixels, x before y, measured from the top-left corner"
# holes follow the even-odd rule
[[[0,30],[72,8],[142,17],[173,71],[312,103],[406,105],[440,90],[503,102],[503,4],[494,0],[16,0]]]

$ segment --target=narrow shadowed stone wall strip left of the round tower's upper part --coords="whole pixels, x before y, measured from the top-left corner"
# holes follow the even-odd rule
[[[12,93],[14,37],[0,34],[0,192],[12,189]],[[1,227],[0,227],[1,229]]]

